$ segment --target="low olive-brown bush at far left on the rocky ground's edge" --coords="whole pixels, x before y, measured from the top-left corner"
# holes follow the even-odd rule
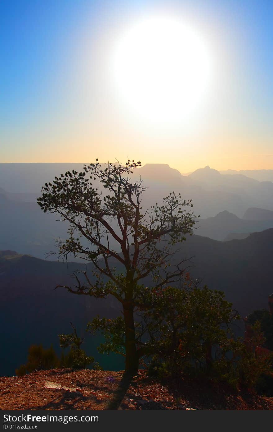
[[[42,345],[31,345],[28,349],[28,362],[15,372],[16,375],[22,376],[34,371],[58,368],[59,365],[60,360],[52,345],[48,349],[44,349]]]

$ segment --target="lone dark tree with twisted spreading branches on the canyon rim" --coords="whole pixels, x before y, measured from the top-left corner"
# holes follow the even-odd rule
[[[104,168],[97,161],[85,165],[83,172],[67,171],[55,177],[38,198],[44,212],[59,214],[70,223],[69,238],[59,241],[60,256],[72,253],[94,264],[95,282],[86,271],[82,275],[76,272],[77,286],[64,288],[96,298],[113,295],[121,303],[123,315],[113,321],[113,338],[124,332],[119,352],[126,356],[126,372],[133,373],[145,351],[138,343],[134,315],[137,308],[144,307],[142,282],[153,276],[151,288],[159,288],[181,280],[185,260],[173,263],[177,251],[173,246],[185,240],[186,233],[192,234],[195,223],[192,211],[187,210],[192,207],[191,200],[181,200],[174,192],[163,198],[163,205],[156,203],[142,211],[145,188],[141,180],[132,183],[128,178],[140,166],[140,162],[128,160],[125,166],[108,162]],[[92,181],[103,185],[107,194],[103,196]],[[115,263],[123,270],[116,270]],[[97,324],[106,328],[108,322]]]

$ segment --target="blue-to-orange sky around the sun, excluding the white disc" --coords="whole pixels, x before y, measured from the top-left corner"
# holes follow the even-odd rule
[[[107,69],[122,28],[162,11],[216,62],[202,115],[167,129],[127,115]],[[273,169],[272,0],[1,0],[0,17],[0,162]]]

